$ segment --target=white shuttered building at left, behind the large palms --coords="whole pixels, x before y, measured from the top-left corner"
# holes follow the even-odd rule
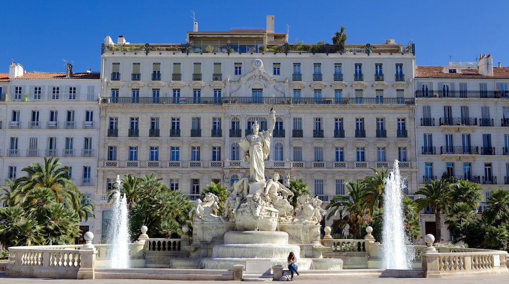
[[[3,82],[8,81],[7,86]],[[2,86],[4,85],[4,86]],[[99,73],[26,72],[12,63],[8,79],[0,79],[0,181],[26,175],[21,171],[44,156],[69,166],[74,183],[94,199],[99,142]],[[93,231],[94,218],[82,222]]]

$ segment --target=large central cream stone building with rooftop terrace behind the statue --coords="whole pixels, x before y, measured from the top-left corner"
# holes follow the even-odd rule
[[[344,181],[399,159],[407,191],[417,188],[413,45],[288,45],[273,27],[273,16],[260,31],[195,25],[188,44],[105,38],[96,240],[117,175],[154,173],[193,199],[210,182],[228,185],[248,169],[238,140],[254,121],[265,129],[271,108],[267,178],[303,178],[326,205]]]

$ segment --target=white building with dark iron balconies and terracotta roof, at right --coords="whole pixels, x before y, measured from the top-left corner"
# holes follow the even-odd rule
[[[509,184],[508,85],[509,67],[493,67],[490,55],[480,55],[478,63],[417,67],[419,188],[442,176],[469,180],[484,188],[485,202],[491,190]],[[428,208],[420,214],[421,236],[435,232],[432,213]],[[436,238],[448,241],[443,221]]]

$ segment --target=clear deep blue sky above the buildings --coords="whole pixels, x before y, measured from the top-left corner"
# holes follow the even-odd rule
[[[0,72],[9,72],[12,60],[27,71],[65,72],[63,60],[73,61],[75,72],[99,71],[105,35],[115,42],[124,35],[131,43],[184,43],[191,10],[200,31],[265,28],[265,16],[274,15],[277,33],[290,26],[290,43],[331,43],[344,25],[347,44],[413,40],[417,65],[444,66],[449,56],[475,61],[479,53],[491,53],[495,66],[509,66],[505,0],[17,0],[0,7]]]

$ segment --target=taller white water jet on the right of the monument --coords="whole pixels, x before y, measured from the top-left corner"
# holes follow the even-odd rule
[[[401,189],[400,169],[398,160],[395,160],[392,172],[385,180],[382,229],[384,269],[411,269],[413,253],[407,246]]]

